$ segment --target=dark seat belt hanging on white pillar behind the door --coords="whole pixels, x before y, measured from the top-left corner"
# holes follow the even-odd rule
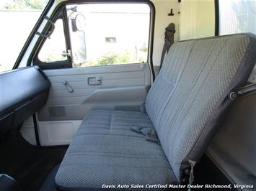
[[[162,64],[164,62],[164,57],[168,53],[169,48],[172,46],[173,42],[175,42],[175,24],[171,23],[165,28],[164,33],[164,47],[162,51],[162,57],[160,62],[160,68],[161,70]]]

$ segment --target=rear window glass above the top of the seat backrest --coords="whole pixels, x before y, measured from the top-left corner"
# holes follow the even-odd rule
[[[219,0],[219,34],[256,34],[256,0]]]

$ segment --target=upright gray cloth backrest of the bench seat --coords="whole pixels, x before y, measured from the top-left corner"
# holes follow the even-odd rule
[[[177,180],[198,162],[231,106],[229,92],[247,82],[256,60],[253,34],[188,40],[172,45],[146,98]]]

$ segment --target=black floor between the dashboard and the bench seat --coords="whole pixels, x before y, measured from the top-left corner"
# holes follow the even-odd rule
[[[51,170],[61,163],[67,146],[37,148],[20,134],[0,144],[0,174],[8,174],[24,191],[40,190]]]

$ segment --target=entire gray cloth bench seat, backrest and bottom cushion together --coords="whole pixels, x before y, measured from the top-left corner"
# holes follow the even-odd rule
[[[56,174],[58,189],[187,183],[185,169],[199,162],[233,102],[229,92],[247,82],[255,45],[253,34],[172,45],[145,113],[95,110],[85,116]],[[132,126],[154,127],[161,144]]]

